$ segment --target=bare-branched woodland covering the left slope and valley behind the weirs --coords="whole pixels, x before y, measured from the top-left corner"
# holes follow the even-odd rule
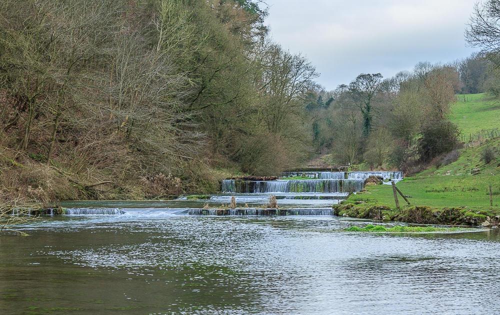
[[[494,16],[476,6],[467,38],[484,47],[481,12]],[[267,13],[258,0],[1,1],[0,198],[216,192],[306,165],[412,174],[463,145],[455,94],[500,94],[496,43],[327,91],[270,38]]]

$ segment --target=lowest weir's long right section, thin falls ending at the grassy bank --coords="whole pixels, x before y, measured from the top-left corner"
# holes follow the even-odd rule
[[[236,209],[188,209],[194,216],[333,216],[333,209],[324,208],[236,208]]]

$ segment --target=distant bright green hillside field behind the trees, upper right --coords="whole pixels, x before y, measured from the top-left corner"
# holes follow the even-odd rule
[[[458,125],[464,137],[500,127],[500,101],[486,93],[456,97],[450,120]]]

